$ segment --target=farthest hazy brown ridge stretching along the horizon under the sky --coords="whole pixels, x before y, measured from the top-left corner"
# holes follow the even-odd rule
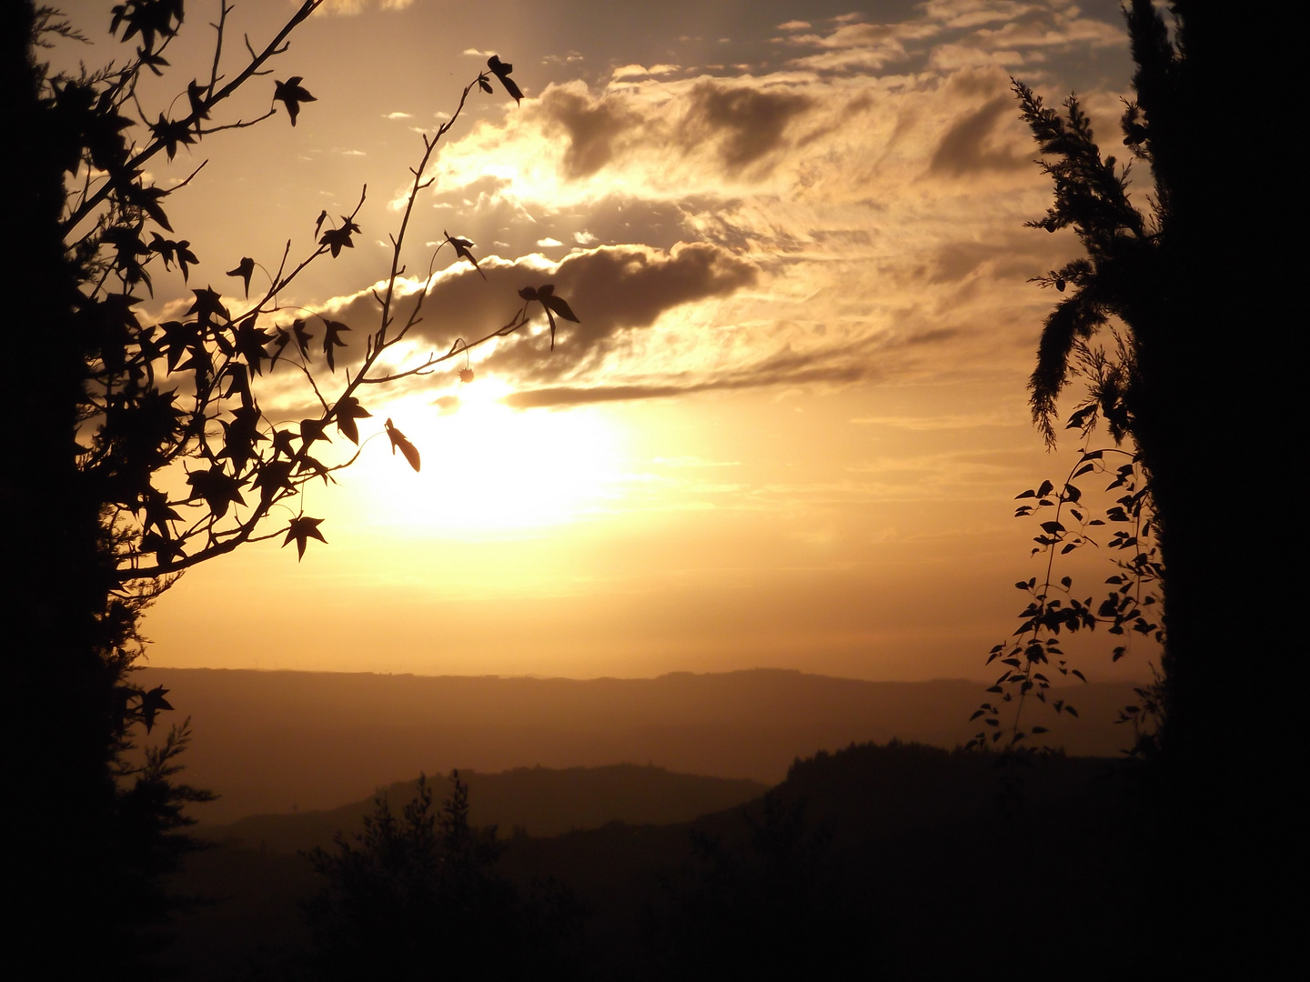
[[[452,767],[651,763],[776,784],[796,757],[892,737],[955,746],[977,729],[973,681],[867,682],[787,669],[658,678],[496,678],[148,668],[191,716],[186,779],[223,797],[204,822],[330,809]],[[1045,720],[1069,753],[1116,755],[1127,683],[1068,693],[1081,714]],[[165,720],[166,721],[166,720]]]

